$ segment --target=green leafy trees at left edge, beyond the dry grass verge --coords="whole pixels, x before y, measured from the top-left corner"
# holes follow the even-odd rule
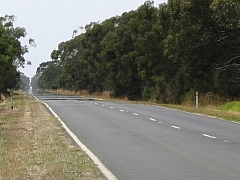
[[[0,93],[19,88],[20,72],[17,68],[24,66],[24,54],[29,48],[22,46],[19,40],[26,36],[25,28],[14,27],[14,20],[14,16],[0,17]],[[34,44],[34,40],[29,39],[29,43]]]

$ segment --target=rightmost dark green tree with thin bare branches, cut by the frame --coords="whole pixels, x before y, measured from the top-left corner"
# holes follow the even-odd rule
[[[240,2],[238,0],[214,0],[212,18],[215,22],[214,51],[218,56],[217,87],[222,94],[240,96]]]

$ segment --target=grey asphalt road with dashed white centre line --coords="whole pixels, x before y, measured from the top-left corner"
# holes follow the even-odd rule
[[[240,124],[158,106],[36,97],[119,180],[240,179]]]

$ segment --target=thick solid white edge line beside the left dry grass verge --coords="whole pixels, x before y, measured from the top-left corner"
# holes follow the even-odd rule
[[[37,99],[34,96],[35,99]],[[100,171],[102,172],[102,174],[108,179],[108,180],[117,180],[117,177],[113,175],[113,173],[111,173],[111,171],[109,171],[107,169],[106,166],[104,166],[104,164],[98,159],[97,156],[95,156],[93,154],[92,151],[90,151],[87,146],[85,146],[78,138],[77,136],[67,127],[67,125],[58,117],[58,115],[52,110],[52,108],[50,108],[45,102],[37,99],[38,101],[42,102],[50,111],[51,113],[58,119],[58,121],[62,124],[63,128],[67,131],[67,133],[72,137],[72,139],[75,141],[75,143],[77,143],[77,145],[92,159],[92,161],[94,162],[94,164],[96,164],[98,166],[98,168],[100,169]]]

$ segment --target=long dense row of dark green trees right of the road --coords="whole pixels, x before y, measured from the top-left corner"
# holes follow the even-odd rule
[[[239,97],[239,30],[238,0],[146,1],[75,30],[40,65],[38,84],[170,103],[191,91]]]

